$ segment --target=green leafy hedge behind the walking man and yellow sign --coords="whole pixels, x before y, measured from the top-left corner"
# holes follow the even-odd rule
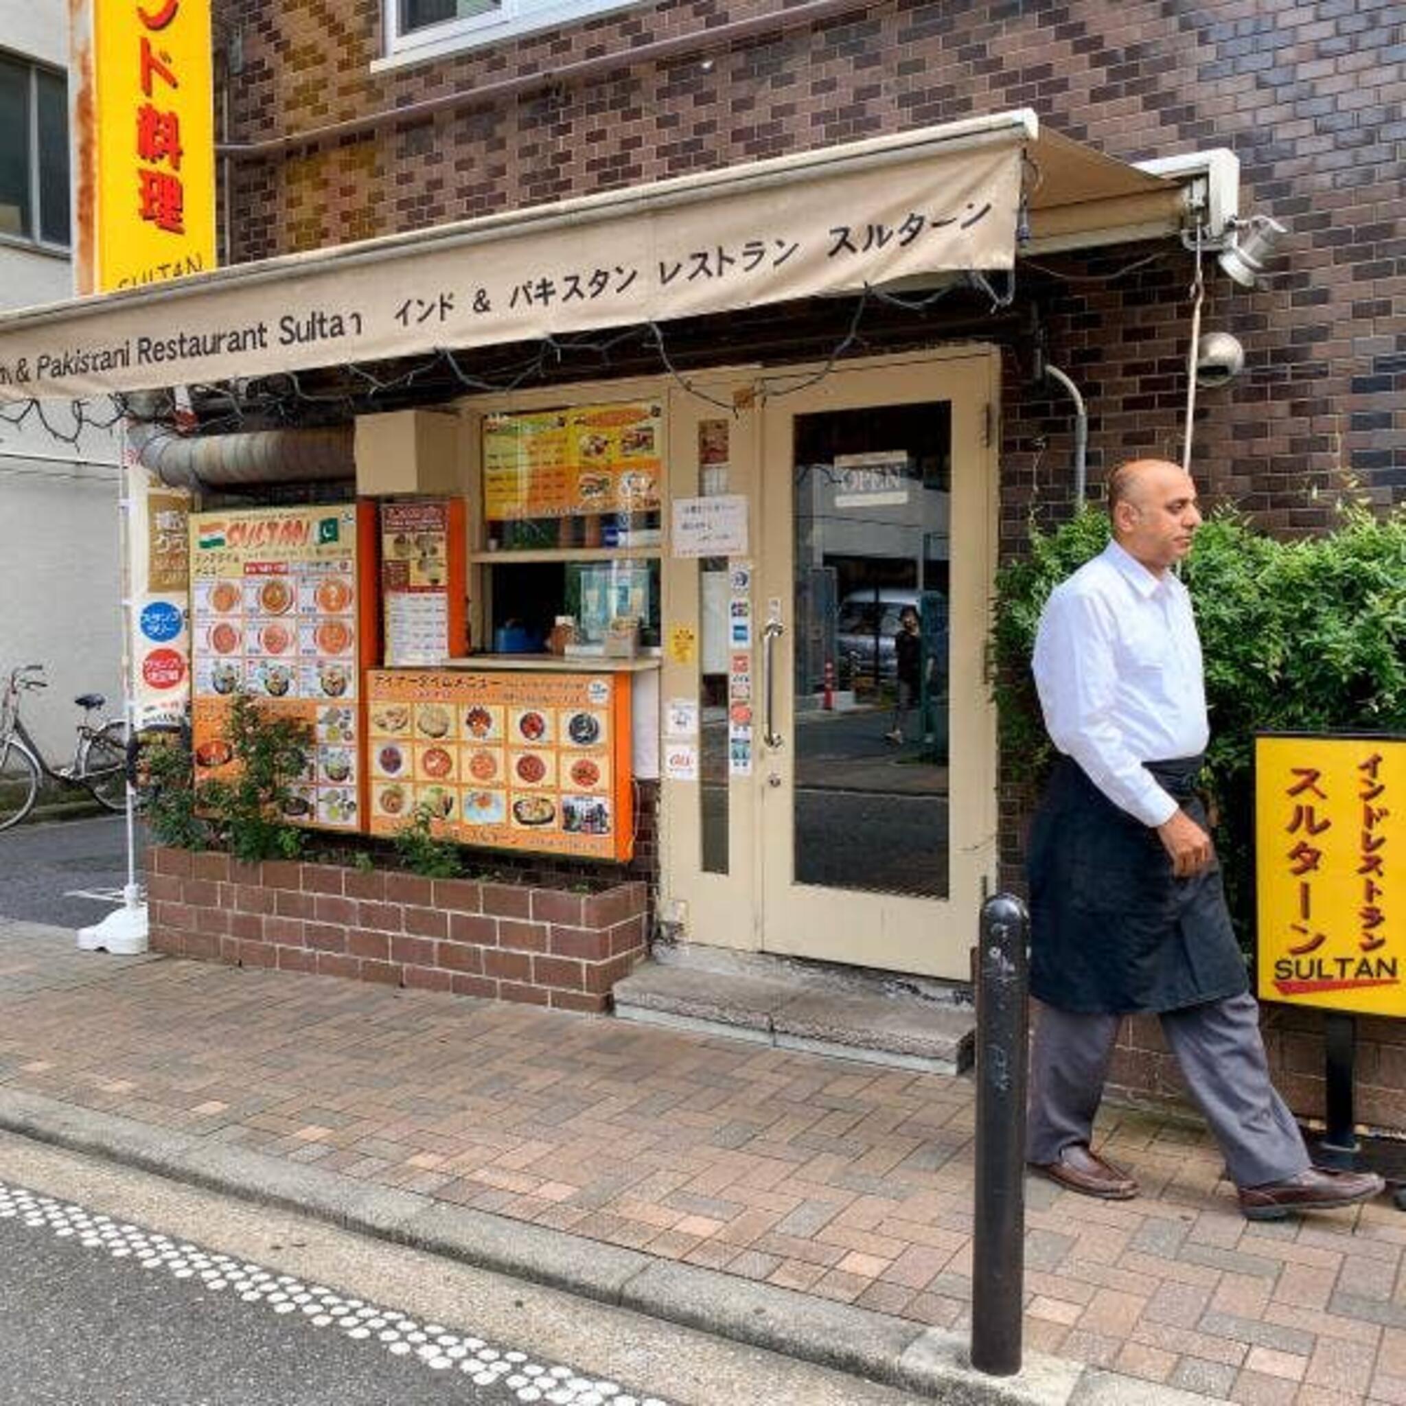
[[[1052,748],[1031,678],[1050,591],[1108,540],[1098,509],[1045,533],[997,574],[994,693],[1015,775],[1040,780]],[[1406,731],[1406,510],[1344,508],[1339,527],[1282,541],[1216,513],[1182,567],[1206,666],[1206,789],[1241,939],[1254,931],[1253,761],[1257,731]]]

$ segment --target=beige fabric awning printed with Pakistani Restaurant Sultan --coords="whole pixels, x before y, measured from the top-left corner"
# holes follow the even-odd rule
[[[197,385],[1014,267],[1177,181],[1001,112],[0,315],[0,401]],[[1132,202],[1132,205],[1129,204]],[[1111,222],[1112,221],[1112,222]]]

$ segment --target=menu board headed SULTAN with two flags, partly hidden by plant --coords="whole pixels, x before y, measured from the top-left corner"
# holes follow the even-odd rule
[[[191,703],[197,780],[231,770],[231,699],[308,725],[314,745],[287,818],[361,828],[359,562],[374,520],[353,503],[190,519]]]

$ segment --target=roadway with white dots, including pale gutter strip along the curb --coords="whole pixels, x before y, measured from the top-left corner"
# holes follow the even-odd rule
[[[911,1406],[0,1133],[0,1406]]]

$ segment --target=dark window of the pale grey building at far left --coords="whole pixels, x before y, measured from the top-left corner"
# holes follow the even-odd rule
[[[69,84],[0,53],[0,236],[69,246]]]

